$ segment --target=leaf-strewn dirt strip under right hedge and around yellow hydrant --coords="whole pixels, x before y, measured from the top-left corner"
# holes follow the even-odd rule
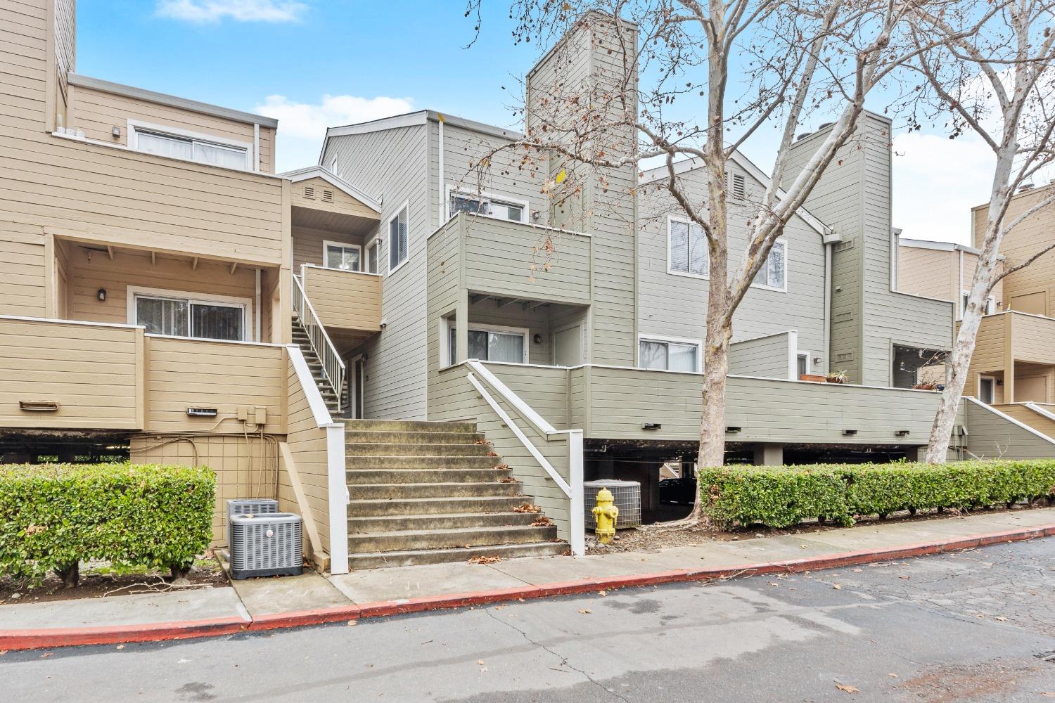
[[[918,523],[928,520],[946,520],[950,518],[994,514],[1001,512],[1019,512],[1022,510],[1046,507],[1048,507],[1046,503],[1038,502],[1036,505],[1019,505],[1011,509],[1001,507],[979,510],[945,510],[943,512],[931,510],[928,512],[919,512],[915,515],[909,514],[908,511],[904,511],[889,515],[886,520],[880,520],[879,518],[861,518],[857,521],[855,527],[889,525],[893,523]],[[761,525],[752,525],[749,527],[734,528],[728,531],[713,530],[707,527],[683,526],[673,528],[670,524],[655,523],[652,525],[642,525],[640,527],[618,530],[615,533],[615,539],[612,543],[607,545],[600,544],[592,533],[588,532],[587,553],[611,554],[622,551],[658,551],[659,549],[665,549],[667,547],[695,547],[709,542],[737,542],[776,536],[781,534],[816,534],[832,529],[840,528],[838,525],[822,525],[817,521],[805,522],[795,527],[789,527],[786,529],[775,529]]]

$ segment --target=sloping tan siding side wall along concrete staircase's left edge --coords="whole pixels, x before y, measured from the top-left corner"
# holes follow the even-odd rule
[[[300,378],[293,370],[293,363],[286,359],[286,385],[289,389],[289,416],[286,423],[286,443],[289,445],[296,472],[304,488],[311,514],[301,515],[304,520],[314,520],[319,530],[321,548],[329,551],[329,464],[326,453],[326,430],[316,425],[308,398],[301,387]],[[280,500],[287,506],[295,506],[296,499],[286,472],[280,474]],[[300,510],[294,510],[300,512]],[[319,547],[318,545],[313,545]]]

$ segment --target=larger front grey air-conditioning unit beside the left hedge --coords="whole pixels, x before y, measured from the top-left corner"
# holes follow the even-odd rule
[[[304,564],[304,522],[291,512],[231,518],[231,577],[298,575]]]

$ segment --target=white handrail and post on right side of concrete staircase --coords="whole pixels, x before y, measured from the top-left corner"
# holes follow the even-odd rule
[[[575,556],[582,556],[586,554],[586,499],[582,494],[582,430],[557,430],[554,429],[553,425],[545,422],[545,419],[539,415],[535,410],[532,409],[526,403],[524,403],[520,396],[514,393],[510,388],[503,384],[495,374],[488,371],[482,364],[477,360],[469,359],[466,362],[472,371],[469,371],[466,376],[468,382],[473,384],[477,392],[481,397],[491,406],[491,409],[501,418],[506,427],[516,435],[520,444],[524,446],[524,449],[535,457],[535,461],[539,463],[546,474],[553,480],[555,484],[563,491],[564,495],[569,497],[569,533],[571,543],[572,554]],[[557,473],[557,470],[553,468],[553,465],[542,455],[542,453],[532,444],[528,435],[517,427],[517,424],[513,422],[510,414],[505,412],[501,405],[487,392],[487,390],[480,384],[476,378],[476,374],[491,384],[492,388],[502,396],[502,398],[510,404],[520,416],[526,419],[531,425],[535,427],[536,430],[543,436],[546,441],[551,438],[556,438],[556,435],[567,435],[568,441],[568,481]]]

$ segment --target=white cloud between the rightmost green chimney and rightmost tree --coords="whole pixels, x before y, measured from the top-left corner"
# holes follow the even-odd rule
[[[894,138],[894,227],[909,239],[971,243],[971,209],[989,202],[995,157],[974,134]]]

